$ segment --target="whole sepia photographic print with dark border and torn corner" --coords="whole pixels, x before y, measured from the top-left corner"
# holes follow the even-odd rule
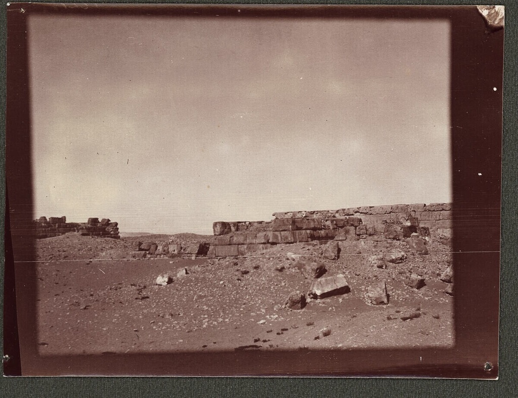
[[[498,376],[503,7],[8,23],[21,375]]]

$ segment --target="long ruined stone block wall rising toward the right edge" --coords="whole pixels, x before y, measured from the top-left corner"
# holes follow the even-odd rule
[[[213,224],[214,241],[209,257],[234,257],[270,245],[312,240],[346,240],[382,235],[402,239],[412,234],[452,235],[449,203],[363,206],[338,210],[274,213],[270,222],[224,222]],[[261,231],[255,231],[256,226]]]

